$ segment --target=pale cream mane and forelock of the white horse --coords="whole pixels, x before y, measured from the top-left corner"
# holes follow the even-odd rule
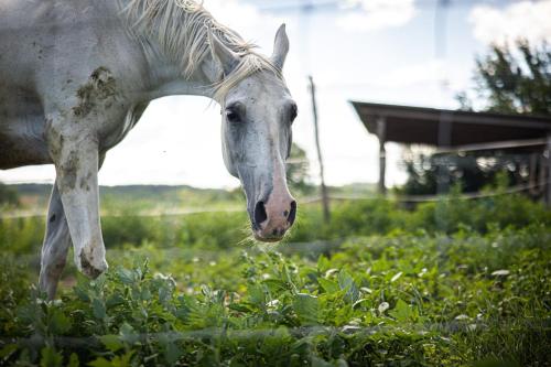
[[[193,0],[129,0],[122,12],[132,30],[156,37],[163,53],[180,65],[185,77],[190,77],[213,52],[213,40],[236,53],[240,63],[212,86],[217,100],[223,100],[233,87],[260,71],[272,72],[282,79],[281,71],[255,52],[255,44],[218,23],[203,3]]]

